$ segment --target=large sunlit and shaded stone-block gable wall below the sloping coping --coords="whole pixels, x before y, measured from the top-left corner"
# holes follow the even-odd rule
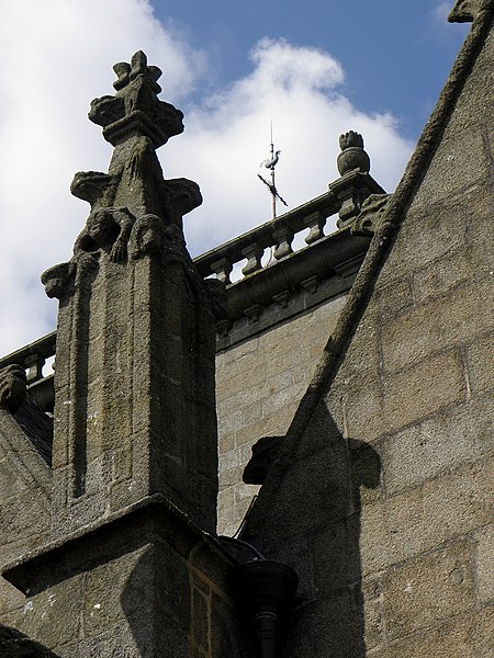
[[[301,576],[287,657],[492,655],[490,41],[330,390],[254,514]]]

